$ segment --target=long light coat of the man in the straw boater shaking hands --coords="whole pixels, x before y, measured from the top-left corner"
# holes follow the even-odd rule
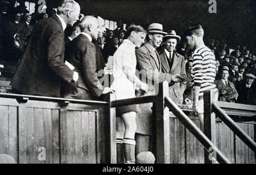
[[[147,95],[155,95],[158,93],[158,83],[164,82],[165,80],[167,80],[168,83],[171,83],[171,74],[162,72],[159,55],[148,42],[137,49],[135,53],[137,57],[137,69],[141,72],[144,71],[144,74],[142,74],[142,82],[148,84],[149,90]],[[138,105],[138,113],[136,117],[137,133],[146,135],[152,134],[151,107],[152,104]]]

